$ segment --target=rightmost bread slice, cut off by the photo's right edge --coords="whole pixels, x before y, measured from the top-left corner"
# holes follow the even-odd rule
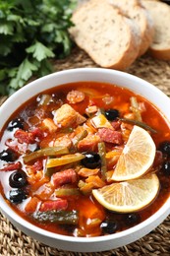
[[[142,0],[142,5],[150,12],[155,27],[149,52],[157,59],[170,60],[170,6],[153,0]]]

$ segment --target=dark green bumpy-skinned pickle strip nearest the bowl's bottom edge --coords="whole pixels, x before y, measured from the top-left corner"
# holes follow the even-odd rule
[[[54,224],[78,224],[78,211],[47,211],[37,212],[33,215],[33,219],[39,223],[54,223]]]

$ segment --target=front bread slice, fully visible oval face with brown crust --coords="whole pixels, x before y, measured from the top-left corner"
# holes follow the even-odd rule
[[[101,67],[124,70],[139,55],[140,38],[133,22],[105,1],[88,1],[72,18],[70,33]]]

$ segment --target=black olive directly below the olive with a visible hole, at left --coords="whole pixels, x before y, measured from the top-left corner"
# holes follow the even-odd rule
[[[18,188],[18,189],[13,189],[9,192],[9,200],[13,204],[20,204],[22,203],[25,199],[27,199],[27,194],[26,191]]]

